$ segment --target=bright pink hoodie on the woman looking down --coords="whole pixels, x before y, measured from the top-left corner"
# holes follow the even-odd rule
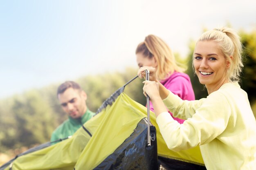
[[[178,95],[183,100],[195,100],[195,94],[190,82],[189,75],[186,73],[174,72],[170,77],[160,81],[165,88]],[[150,110],[154,112],[153,104],[150,102]],[[169,112],[173,117],[173,114]],[[174,120],[178,121],[180,124],[184,122],[183,119],[173,117]]]

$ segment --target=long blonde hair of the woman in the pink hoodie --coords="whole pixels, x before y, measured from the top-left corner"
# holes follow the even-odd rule
[[[144,57],[157,61],[157,79],[162,80],[173,74],[174,71],[183,73],[184,68],[178,66],[170,47],[155,35],[146,36],[144,42],[139,43],[135,53],[142,53]]]

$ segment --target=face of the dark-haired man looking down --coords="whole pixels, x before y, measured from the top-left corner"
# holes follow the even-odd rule
[[[58,94],[58,100],[63,110],[73,119],[82,117],[87,110],[87,95],[84,91],[74,88],[67,88],[64,93]]]

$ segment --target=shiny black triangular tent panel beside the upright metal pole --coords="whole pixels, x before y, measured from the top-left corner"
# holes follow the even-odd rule
[[[157,140],[147,146],[147,123],[142,119],[130,137],[94,170],[157,170]],[[156,135],[155,127],[151,128]]]

